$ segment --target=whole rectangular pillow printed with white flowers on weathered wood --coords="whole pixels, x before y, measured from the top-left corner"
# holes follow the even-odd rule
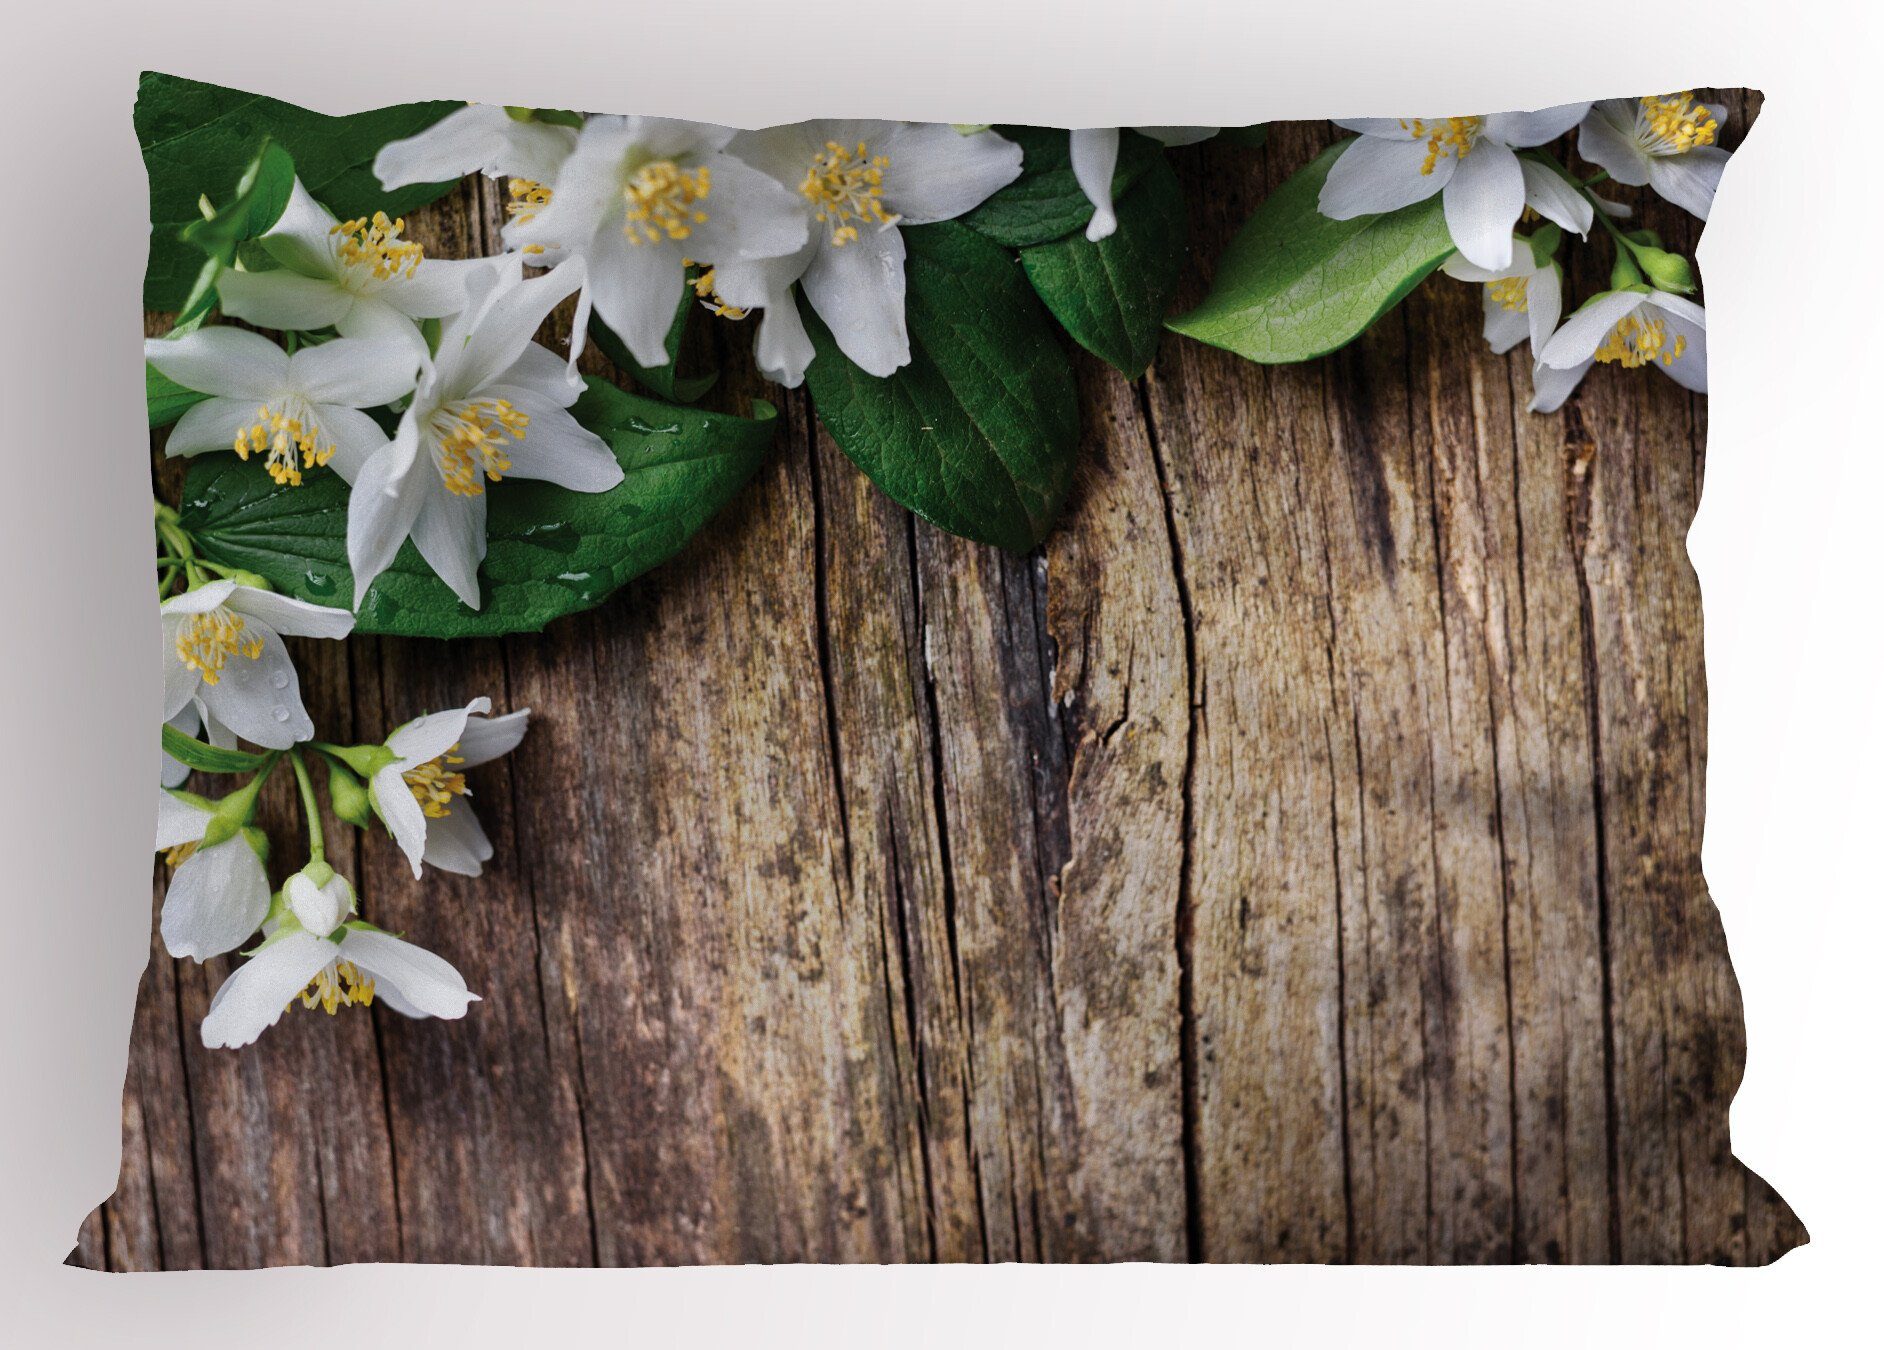
[[[160,859],[73,1260],[1803,1243],[1684,552],[1758,104],[145,75]]]

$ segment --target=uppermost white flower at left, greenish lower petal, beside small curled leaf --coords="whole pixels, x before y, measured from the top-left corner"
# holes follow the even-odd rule
[[[222,313],[281,331],[333,326],[343,337],[398,341],[422,362],[426,339],[416,320],[463,309],[465,277],[486,262],[426,258],[403,232],[405,220],[384,211],[335,220],[296,181],[288,209],[262,235],[281,267],[224,271],[217,279]]]

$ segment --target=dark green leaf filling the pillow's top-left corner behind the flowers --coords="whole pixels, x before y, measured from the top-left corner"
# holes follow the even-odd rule
[[[463,104],[399,104],[352,117],[326,117],[236,88],[145,72],[138,81],[134,122],[151,175],[151,265],[143,277],[145,309],[181,309],[202,265],[183,243],[202,218],[198,200],[234,196],[243,168],[266,137],[292,158],[301,185],[343,220],[373,211],[401,215],[456,183],[416,183],[384,192],[373,177],[379,147],[414,136]]]

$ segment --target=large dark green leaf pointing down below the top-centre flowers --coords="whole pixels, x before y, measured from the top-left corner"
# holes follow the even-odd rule
[[[818,416],[852,461],[942,529],[1025,552],[1072,484],[1072,365],[1014,258],[953,222],[902,232],[910,363],[887,378],[804,311]]]

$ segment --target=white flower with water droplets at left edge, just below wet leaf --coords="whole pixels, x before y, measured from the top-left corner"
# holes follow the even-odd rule
[[[352,614],[220,580],[173,595],[164,616],[164,719],[190,702],[211,727],[286,749],[315,734],[281,636],[343,638]]]

